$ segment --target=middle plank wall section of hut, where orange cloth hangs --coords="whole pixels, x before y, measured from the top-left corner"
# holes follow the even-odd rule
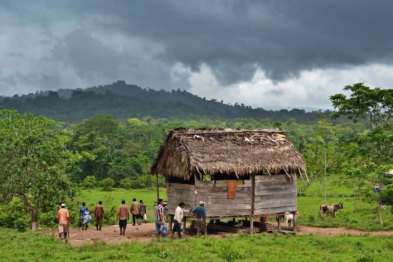
[[[208,217],[251,215],[251,181],[237,185],[235,199],[227,199],[227,181],[197,181],[196,202],[206,202]]]

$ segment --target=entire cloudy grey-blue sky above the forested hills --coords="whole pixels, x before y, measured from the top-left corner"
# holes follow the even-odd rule
[[[254,107],[392,88],[391,1],[1,1],[0,95],[125,80]]]

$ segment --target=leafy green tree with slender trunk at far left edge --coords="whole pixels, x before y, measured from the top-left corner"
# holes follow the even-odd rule
[[[55,121],[16,111],[0,111],[0,201],[19,197],[31,213],[36,230],[41,205],[53,205],[73,197],[67,174],[78,156],[65,147]]]

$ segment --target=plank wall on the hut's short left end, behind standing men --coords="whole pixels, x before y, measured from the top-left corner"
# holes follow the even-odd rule
[[[166,197],[168,201],[168,214],[174,214],[180,202],[184,202],[184,209],[195,207],[195,186],[179,183],[166,184]]]

